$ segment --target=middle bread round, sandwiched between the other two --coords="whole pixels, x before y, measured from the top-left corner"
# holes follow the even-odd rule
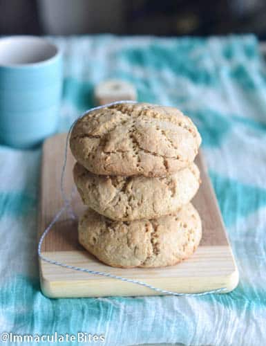
[[[98,176],[76,163],[73,176],[84,204],[112,220],[154,219],[189,203],[200,185],[192,163],[173,175]]]

